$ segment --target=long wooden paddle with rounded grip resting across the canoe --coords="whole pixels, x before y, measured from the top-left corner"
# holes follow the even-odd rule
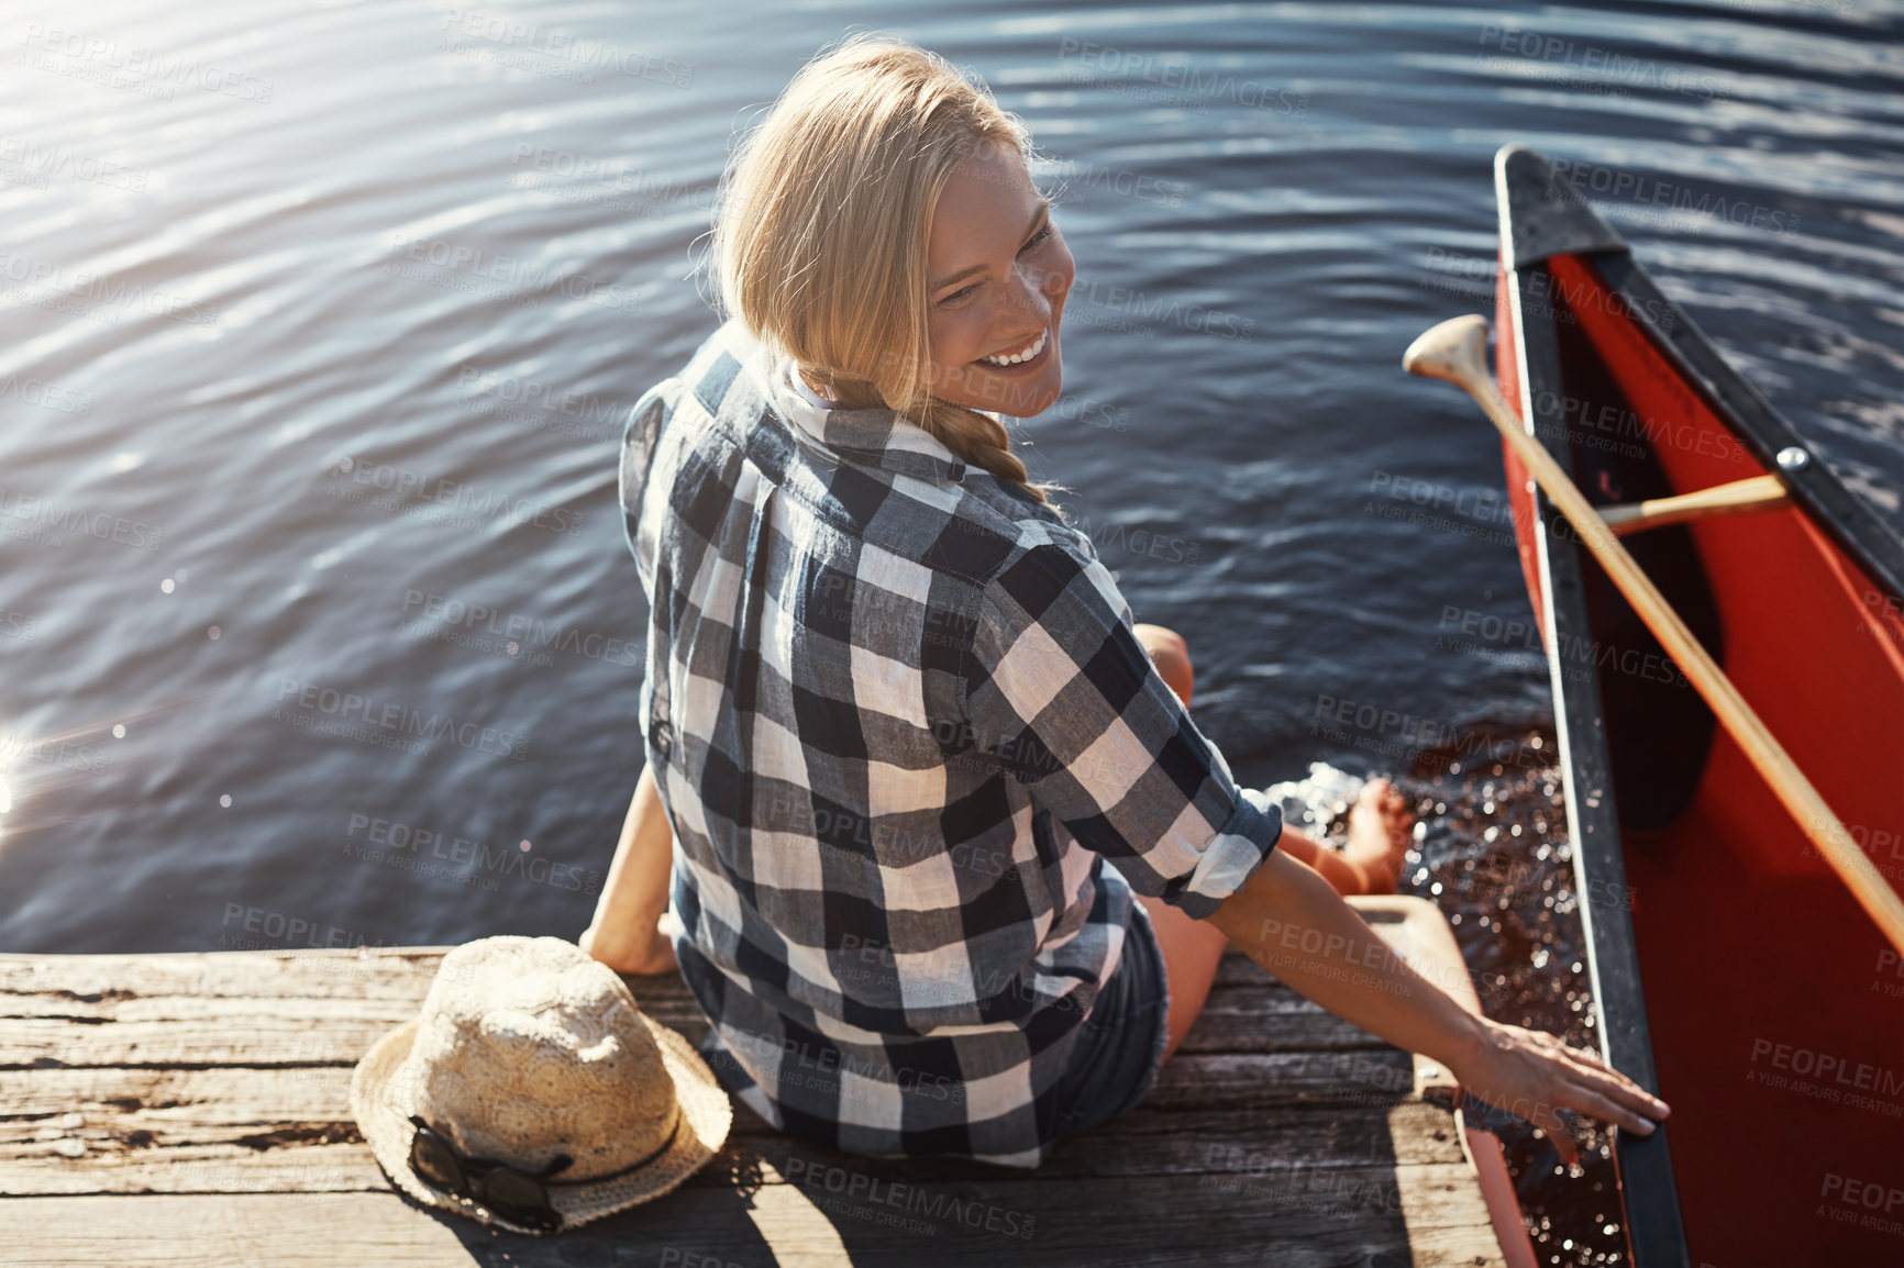
[[[1647,623],[1653,636],[1660,640],[1660,645],[1666,647],[1668,655],[1679,664],[1679,670],[1706,699],[1712,712],[1719,716],[1719,722],[1744,750],[1757,773],[1765,777],[1765,783],[1778,794],[1784,807],[1792,811],[1805,836],[1818,847],[1818,853],[1832,864],[1839,880],[1851,887],[1853,897],[1877,921],[1877,927],[1891,939],[1891,944],[1898,952],[1904,952],[1904,901],[1898,899],[1896,891],[1885,883],[1877,868],[1872,866],[1872,861],[1851,840],[1845,824],[1837,821],[1837,815],[1824,803],[1818,790],[1811,786],[1811,781],[1805,779],[1803,771],[1797,769],[1778,741],[1773,739],[1773,733],[1765,729],[1759,716],[1752,712],[1752,706],[1733,687],[1725,670],[1698,645],[1698,640],[1685,628],[1679,613],[1666,604],[1658,588],[1639,571],[1634,556],[1626,552],[1626,546],[1613,535],[1607,522],[1588,505],[1580,489],[1567,478],[1567,472],[1554,461],[1554,455],[1521,426],[1519,417],[1516,417],[1514,409],[1500,396],[1500,388],[1495,386],[1495,377],[1487,369],[1487,318],[1468,314],[1441,322],[1409,345],[1409,350],[1401,354],[1401,367],[1411,375],[1447,379],[1466,388],[1481,404],[1481,409],[1487,411],[1487,417],[1506,436],[1533,478],[1573,527],[1578,529],[1580,541],[1586,543],[1586,548],[1594,552],[1594,558],[1613,577],[1613,584],[1620,588],[1620,594],[1634,605],[1639,619]]]

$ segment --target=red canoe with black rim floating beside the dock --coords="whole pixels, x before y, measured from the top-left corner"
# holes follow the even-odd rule
[[[1596,505],[1773,474],[1626,546],[1904,889],[1904,543],[1533,150],[1495,166],[1497,377]],[[1632,1262],[1904,1264],[1904,960],[1506,453],[1546,634]],[[1775,489],[1776,493],[1776,489]]]

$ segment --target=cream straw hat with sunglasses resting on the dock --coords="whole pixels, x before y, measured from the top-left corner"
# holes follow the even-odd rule
[[[366,1053],[350,1112],[390,1180],[421,1203],[539,1232],[430,1188],[409,1167],[423,1118],[465,1159],[541,1173],[573,1228],[659,1198],[727,1140],[733,1108],[685,1038],[626,982],[562,939],[489,937],[436,969],[415,1020]]]

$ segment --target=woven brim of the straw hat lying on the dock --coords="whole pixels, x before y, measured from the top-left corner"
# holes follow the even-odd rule
[[[564,1230],[680,1188],[687,1177],[720,1152],[733,1127],[733,1104],[701,1053],[668,1026],[645,1013],[640,1017],[655,1036],[663,1066],[674,1078],[674,1097],[682,1104],[682,1129],[674,1135],[668,1152],[640,1171],[600,1184],[550,1186],[548,1201],[562,1213]],[[396,1188],[425,1205],[466,1215],[510,1232],[537,1234],[539,1230],[514,1224],[482,1203],[430,1188],[409,1169],[409,1142],[417,1129],[409,1121],[411,1085],[404,1074],[404,1059],[409,1057],[415,1038],[417,1022],[404,1022],[377,1040],[375,1047],[350,1072],[350,1114],[356,1118],[364,1140],[369,1142],[377,1165]]]

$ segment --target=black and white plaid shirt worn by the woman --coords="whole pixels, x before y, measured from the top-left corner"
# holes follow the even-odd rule
[[[703,1051],[788,1135],[1036,1167],[1131,891],[1207,916],[1281,815],[1083,533],[790,367],[729,322],[621,457]]]

